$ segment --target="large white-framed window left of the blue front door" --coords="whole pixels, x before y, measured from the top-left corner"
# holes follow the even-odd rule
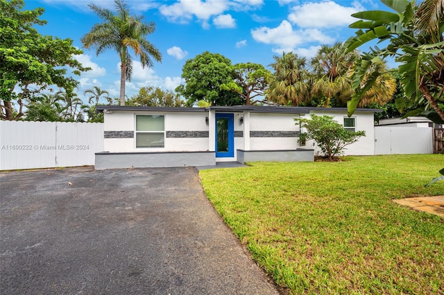
[[[165,116],[136,115],[136,148],[165,147]]]

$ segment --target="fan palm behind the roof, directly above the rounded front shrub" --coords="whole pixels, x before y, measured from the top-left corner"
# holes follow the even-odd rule
[[[358,54],[346,51],[342,43],[336,42],[333,46],[321,46],[316,56],[311,58],[311,68],[316,75],[312,93],[323,96],[323,107],[330,107],[332,98],[348,100],[352,96],[349,77]]]

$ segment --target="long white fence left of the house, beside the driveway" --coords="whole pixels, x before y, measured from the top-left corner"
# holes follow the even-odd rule
[[[0,121],[0,170],[94,165],[103,123]]]

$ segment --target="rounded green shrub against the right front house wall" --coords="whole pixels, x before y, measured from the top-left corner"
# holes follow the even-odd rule
[[[332,116],[316,116],[295,118],[296,124],[307,129],[307,139],[313,139],[328,159],[343,154],[345,147],[366,136],[364,131],[350,131],[337,123]]]

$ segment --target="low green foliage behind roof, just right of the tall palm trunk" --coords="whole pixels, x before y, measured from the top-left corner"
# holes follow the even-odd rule
[[[141,107],[185,107],[185,101],[173,91],[164,91],[159,87],[142,87],[137,96],[128,100],[128,105]]]

